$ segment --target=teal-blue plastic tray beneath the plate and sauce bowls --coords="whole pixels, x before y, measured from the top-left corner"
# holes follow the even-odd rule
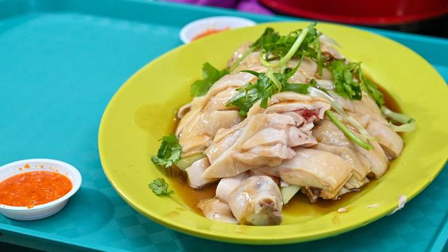
[[[83,185],[56,216],[0,216],[0,242],[54,251],[440,251],[448,238],[448,169],[406,207],[334,238],[285,246],[223,244],[184,235],[128,206],[101,169],[103,109],[145,63],[181,45],[185,23],[214,15],[283,17],[143,0],[0,0],[0,163],[55,158]],[[373,30],[416,50],[448,79],[448,41]]]

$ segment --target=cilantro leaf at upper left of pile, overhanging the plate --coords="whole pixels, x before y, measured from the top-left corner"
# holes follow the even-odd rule
[[[192,97],[203,96],[207,94],[210,87],[225,74],[229,74],[228,70],[217,70],[213,65],[206,62],[202,65],[202,80],[194,81],[191,86],[190,94]]]

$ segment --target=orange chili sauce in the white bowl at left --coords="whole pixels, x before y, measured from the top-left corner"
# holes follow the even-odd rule
[[[66,176],[52,171],[30,171],[0,182],[0,204],[32,208],[57,200],[72,189]]]

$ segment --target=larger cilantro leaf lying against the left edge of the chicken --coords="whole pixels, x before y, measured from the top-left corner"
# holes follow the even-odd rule
[[[174,134],[170,133],[168,136],[163,136],[157,156],[152,156],[151,160],[156,165],[165,165],[166,168],[173,165],[174,162],[181,159],[182,146],[179,144]],[[160,141],[159,140],[159,141]]]

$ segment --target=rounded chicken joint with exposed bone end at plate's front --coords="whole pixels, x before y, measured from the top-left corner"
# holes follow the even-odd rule
[[[229,206],[239,224],[267,226],[283,220],[281,192],[269,176],[247,178],[230,193]]]

